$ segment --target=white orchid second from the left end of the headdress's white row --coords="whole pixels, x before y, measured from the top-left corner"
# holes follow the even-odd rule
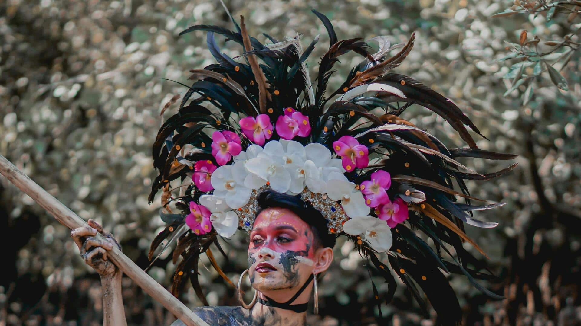
[[[252,189],[240,183],[240,178],[233,175],[233,165],[222,165],[212,173],[210,182],[214,187],[214,195],[225,198],[231,208],[240,208],[246,205],[252,194]],[[236,181],[238,179],[238,181]]]

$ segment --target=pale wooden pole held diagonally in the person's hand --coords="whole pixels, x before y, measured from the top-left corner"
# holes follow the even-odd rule
[[[6,160],[0,155],[0,173],[10,180],[16,187],[24,191],[27,195],[33,198],[34,201],[46,209],[56,220],[68,227],[69,229],[76,229],[81,226],[88,226],[85,220],[81,219],[77,214],[73,213],[68,207],[64,206],[62,202],[53,197],[53,195],[38,186],[33,180],[28,178],[22,171],[20,171],[12,162]],[[105,240],[101,234],[97,234],[101,240]],[[71,240],[72,241],[72,240]],[[145,292],[147,292],[153,299],[161,303],[167,310],[170,310],[175,317],[179,318],[188,326],[208,326],[198,315],[188,309],[180,300],[171,295],[162,285],[153,280],[145,271],[139,266],[135,265],[123,252],[117,247],[113,247],[110,252],[107,252],[109,258],[125,275],[131,278],[135,284],[139,285]]]

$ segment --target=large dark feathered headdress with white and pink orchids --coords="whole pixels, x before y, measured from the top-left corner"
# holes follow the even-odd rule
[[[467,126],[480,135],[478,128],[456,104],[421,82],[392,72],[410,53],[414,34],[407,44],[393,46],[386,37],[372,38],[379,50],[371,53],[361,38],[338,41],[327,17],[313,12],[327,29],[330,45],[312,81],[306,60],[318,37],[306,48],[299,35],[278,41],[265,34],[271,44],[261,44],[248,35],[243,17],[240,25],[232,19],[236,32],[196,25],[180,33],[207,31],[207,46],[217,63],[191,70],[193,83],[178,113],[163,123],[153,144],[153,166],[160,173],[149,201],[163,189],[161,215],[168,226],[153,240],[149,258],[164,239],[178,238],[174,263],[180,255],[183,259],[174,275],[173,292],[177,295],[182,280],[189,277],[207,305],[198,282],[200,253],[206,252],[231,283],[210,245],[223,252],[218,235],[231,237],[238,229],[252,229],[257,194],[270,188],[300,195],[327,218],[329,233],[353,240],[375,265],[374,273],[389,283],[388,302],[396,287],[391,269],[425,307],[418,286],[422,289],[438,312],[439,323],[457,323],[460,305],[442,271],[465,274],[481,291],[501,298],[475,281],[491,275],[467,267],[470,263],[482,269],[462,242],[484,255],[464,233],[463,223],[494,227],[497,223],[474,219],[472,211],[503,203],[471,205],[471,200],[482,200],[469,194],[464,180],[489,180],[516,164],[479,174],[455,158],[510,160],[516,155],[480,150]],[[221,52],[215,34],[242,45],[241,59]],[[388,57],[396,48],[399,52]],[[338,89],[328,92],[333,67],[350,51],[363,60]],[[468,147],[447,148],[401,118],[411,104],[446,119]],[[454,190],[453,179],[460,191]],[[177,198],[171,194],[177,188],[170,187],[173,180],[182,185]],[[458,203],[456,196],[465,203]],[[170,201],[182,212],[169,211]],[[411,229],[431,238],[436,250]],[[457,255],[451,255],[446,245]],[[453,261],[444,260],[442,251]],[[385,262],[378,256],[382,252],[387,253]],[[379,298],[375,285],[372,288]]]

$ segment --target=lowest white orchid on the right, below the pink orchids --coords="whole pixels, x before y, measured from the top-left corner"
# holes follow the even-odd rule
[[[392,247],[392,231],[388,223],[373,216],[350,219],[343,224],[343,231],[352,236],[361,236],[377,252],[385,252]]]

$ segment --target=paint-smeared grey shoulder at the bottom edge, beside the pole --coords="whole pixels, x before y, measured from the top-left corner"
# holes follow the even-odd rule
[[[192,311],[209,325],[253,325],[248,310],[242,307],[197,307]],[[171,326],[185,326],[185,324],[181,320],[176,320]]]

